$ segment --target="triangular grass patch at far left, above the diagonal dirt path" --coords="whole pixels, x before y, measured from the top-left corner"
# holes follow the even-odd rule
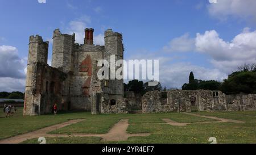
[[[10,118],[0,113],[0,140],[7,137],[20,135],[35,131],[36,129],[48,127],[54,124],[67,122],[69,119],[80,119],[90,116],[90,113],[75,112],[58,115],[40,115],[40,116],[23,116],[22,108],[18,108],[16,114],[12,114]]]

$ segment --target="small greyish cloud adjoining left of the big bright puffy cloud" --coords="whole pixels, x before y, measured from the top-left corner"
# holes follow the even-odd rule
[[[170,43],[163,47],[166,52],[188,52],[195,48],[195,40],[191,39],[188,33],[172,39]]]

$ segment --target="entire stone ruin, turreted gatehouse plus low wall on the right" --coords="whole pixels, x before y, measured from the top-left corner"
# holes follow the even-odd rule
[[[122,34],[105,31],[105,45],[93,44],[92,28],[85,29],[84,44],[75,43],[73,35],[53,32],[52,66],[47,64],[48,41],[30,36],[24,115],[59,110],[86,110],[92,114],[126,114],[131,107],[143,113],[224,110],[256,110],[256,95],[225,95],[210,90],[150,91],[143,97],[130,92],[123,98],[123,80],[100,80],[99,60],[123,60]],[[117,70],[118,68],[115,68]]]

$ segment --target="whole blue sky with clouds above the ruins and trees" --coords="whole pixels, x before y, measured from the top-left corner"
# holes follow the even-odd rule
[[[255,62],[255,7],[253,0],[3,0],[0,83],[10,82],[0,91],[24,89],[28,37],[39,34],[51,42],[55,28],[75,32],[81,42],[82,29],[93,27],[98,44],[108,28],[123,33],[125,59],[158,58],[167,88],[181,87],[191,71],[221,81],[238,65]]]

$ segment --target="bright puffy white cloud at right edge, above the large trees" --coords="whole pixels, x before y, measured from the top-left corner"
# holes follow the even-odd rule
[[[256,31],[245,28],[230,42],[220,38],[214,30],[196,35],[196,51],[212,57],[212,64],[225,73],[231,73],[242,64],[256,62]]]

